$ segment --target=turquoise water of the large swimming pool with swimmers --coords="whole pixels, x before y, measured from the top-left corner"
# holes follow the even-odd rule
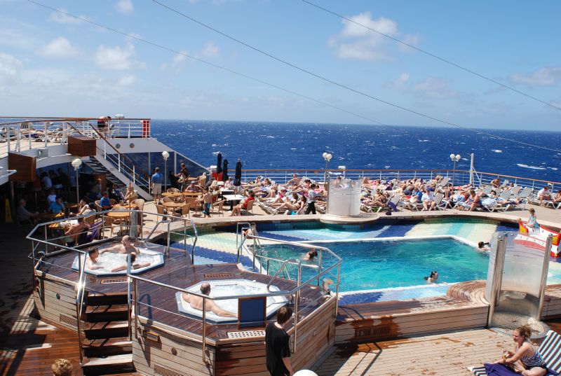
[[[343,259],[340,291],[361,291],[426,284],[424,277],[437,270],[439,282],[460,282],[485,279],[489,256],[455,239],[330,242],[322,244]],[[302,258],[300,248],[270,244],[265,254],[274,258]],[[324,257],[323,265],[332,265],[334,258]],[[303,261],[317,265],[316,260]],[[270,264],[269,274],[278,265]],[[291,277],[296,267],[289,269]],[[303,268],[303,279],[317,272]],[[336,276],[336,271],[333,272]],[[332,278],[334,280],[334,278]]]

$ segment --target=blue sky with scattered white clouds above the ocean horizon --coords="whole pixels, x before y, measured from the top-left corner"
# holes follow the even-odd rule
[[[452,123],[559,130],[561,111],[300,0],[161,0],[292,64]],[[271,60],[144,0],[39,0],[388,125],[428,120]],[[561,106],[558,1],[329,1],[325,8]],[[365,123],[23,0],[0,0],[0,113]]]

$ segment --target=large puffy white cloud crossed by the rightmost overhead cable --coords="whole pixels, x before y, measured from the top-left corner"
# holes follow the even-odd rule
[[[339,59],[375,61],[391,58],[386,48],[386,37],[372,32],[366,27],[388,36],[398,37],[400,33],[397,22],[384,17],[374,20],[370,12],[353,15],[349,19],[354,22],[343,20],[342,31],[328,41],[328,44],[335,49],[335,54]],[[418,41],[417,36],[410,35],[402,36],[401,39],[412,45]],[[405,46],[400,50],[411,50],[411,48]]]

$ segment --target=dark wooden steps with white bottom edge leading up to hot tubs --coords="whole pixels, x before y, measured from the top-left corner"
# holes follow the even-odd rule
[[[89,293],[81,316],[83,375],[134,372],[126,293]]]

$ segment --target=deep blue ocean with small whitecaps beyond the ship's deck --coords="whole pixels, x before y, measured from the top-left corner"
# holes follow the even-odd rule
[[[204,166],[216,154],[245,169],[323,169],[322,154],[332,153],[330,168],[451,169],[450,154],[460,154],[457,169],[469,169],[475,153],[480,172],[561,181],[561,152],[514,144],[457,128],[374,125],[256,123],[203,120],[153,120],[152,136]],[[561,132],[488,130],[500,137],[561,149]]]

